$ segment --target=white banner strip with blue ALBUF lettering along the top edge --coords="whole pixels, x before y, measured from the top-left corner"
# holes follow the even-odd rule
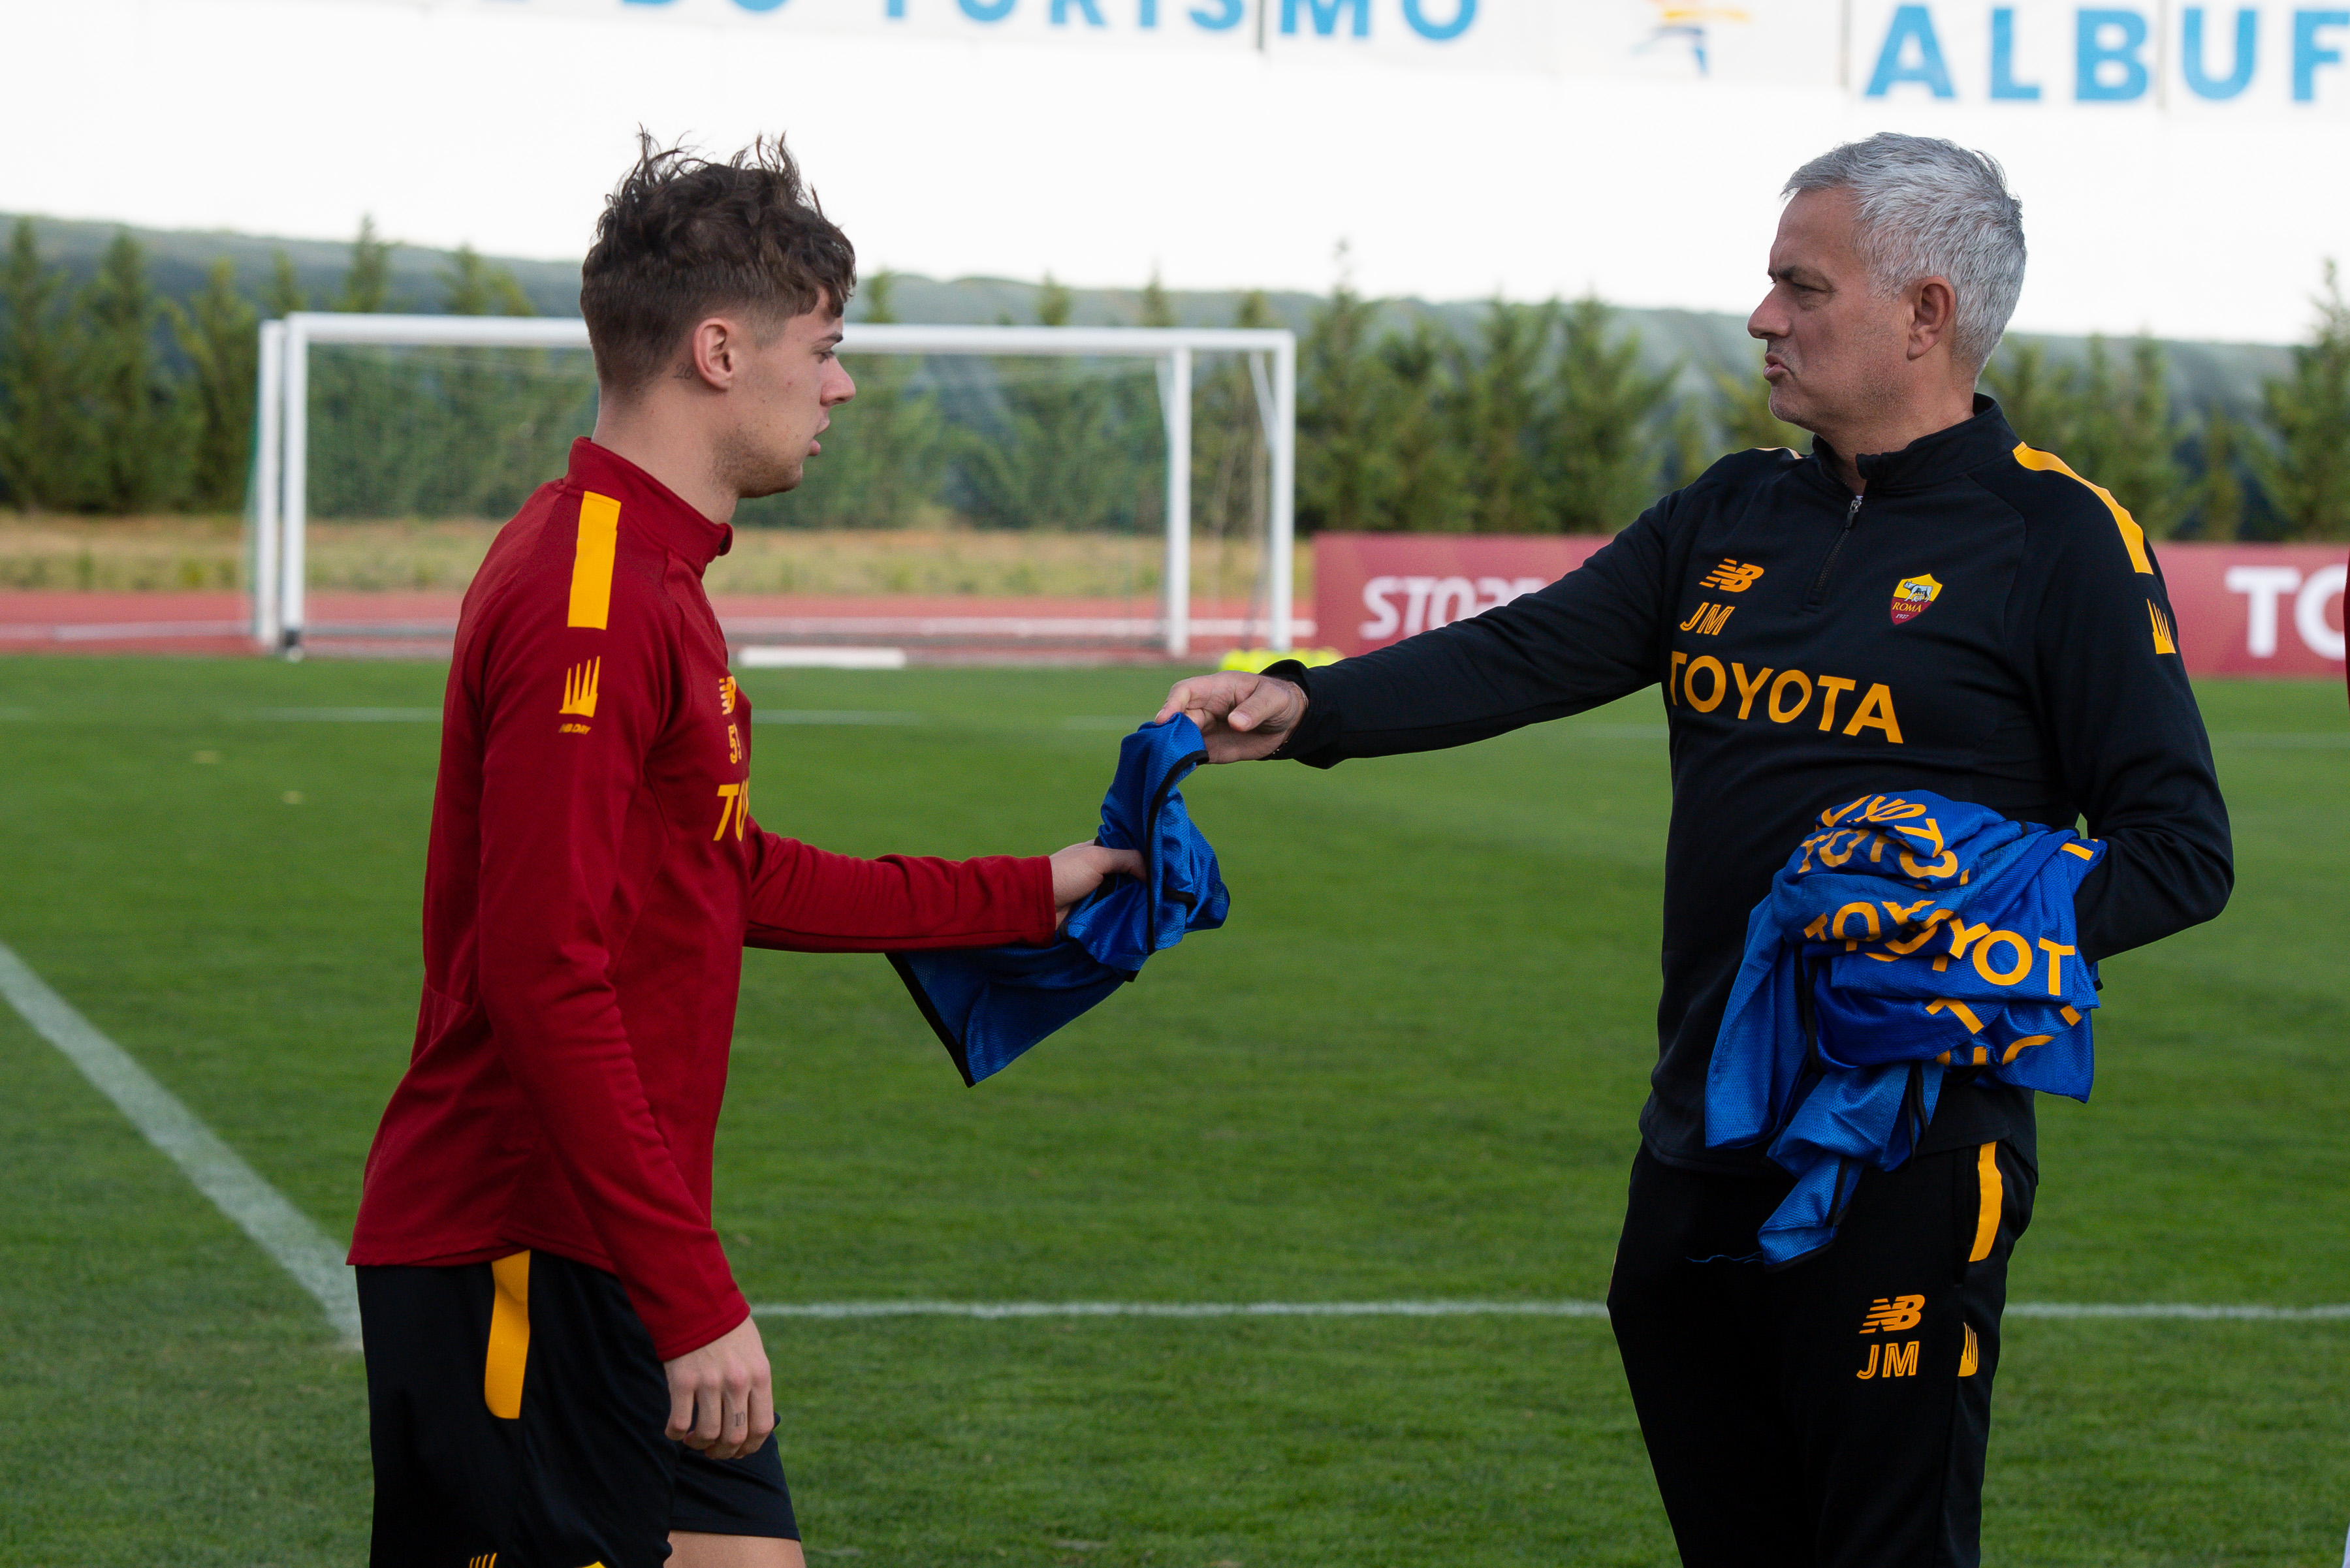
[[[320,0],[355,2],[355,0]],[[381,0],[376,0],[381,2]],[[418,0],[400,0],[416,5]],[[423,0],[449,12],[1227,49],[1885,103],[2183,113],[2350,103],[2350,9],[2138,0]]]

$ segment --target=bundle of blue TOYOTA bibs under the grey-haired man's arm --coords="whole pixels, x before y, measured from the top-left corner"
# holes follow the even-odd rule
[[[1835,1239],[1861,1166],[1911,1157],[1948,1072],[2089,1098],[2073,893],[2103,853],[1927,790],[1819,816],[1746,917],[1706,1067],[1706,1145],[1767,1140],[1795,1173],[1765,1265]]]

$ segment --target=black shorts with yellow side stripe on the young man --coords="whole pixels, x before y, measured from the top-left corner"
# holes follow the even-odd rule
[[[799,1540],[776,1439],[707,1460],[620,1281],[550,1253],[362,1267],[371,1568],[658,1568],[670,1530]]]

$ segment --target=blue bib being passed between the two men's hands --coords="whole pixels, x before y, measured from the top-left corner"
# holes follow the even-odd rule
[[[888,954],[966,1084],[1001,1072],[1133,980],[1147,957],[1180,943],[1184,931],[1224,924],[1231,893],[1175,788],[1206,759],[1198,724],[1184,715],[1126,736],[1093,842],[1140,849],[1144,879],[1102,882],[1050,945]]]

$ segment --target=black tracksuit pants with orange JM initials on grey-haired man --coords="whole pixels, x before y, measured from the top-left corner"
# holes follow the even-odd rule
[[[1680,1561],[1974,1568],[2035,1173],[2005,1143],[1868,1171],[1831,1248],[1765,1272],[1788,1185],[1631,1168],[1607,1312]]]

